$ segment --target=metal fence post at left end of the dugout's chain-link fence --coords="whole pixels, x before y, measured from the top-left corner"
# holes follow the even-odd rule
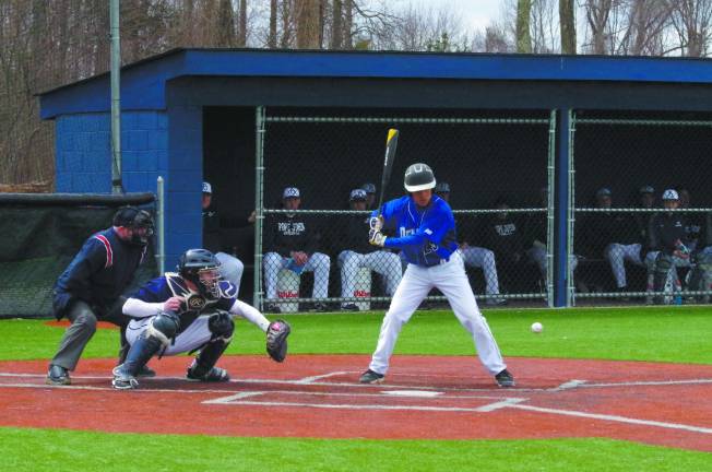
[[[254,146],[254,297],[253,305],[262,309],[262,223],[264,221],[264,107],[256,109],[256,146]]]

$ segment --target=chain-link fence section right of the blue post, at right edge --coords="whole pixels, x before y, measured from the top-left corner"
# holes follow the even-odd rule
[[[573,123],[573,298],[708,303],[712,121]]]

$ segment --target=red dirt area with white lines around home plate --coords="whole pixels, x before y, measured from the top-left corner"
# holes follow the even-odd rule
[[[357,384],[367,356],[222,359],[229,384],[182,378],[187,357],[152,361],[155,379],[110,387],[112,359],[82,361],[69,387],[46,361],[0,363],[0,425],[105,432],[324,438],[608,437],[712,451],[712,366],[510,358],[499,389],[472,357],[395,356],[387,381]]]

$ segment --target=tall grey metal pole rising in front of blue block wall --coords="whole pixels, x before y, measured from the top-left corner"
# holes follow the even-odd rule
[[[119,0],[110,1],[111,22],[111,192],[122,193],[121,182],[121,39]]]

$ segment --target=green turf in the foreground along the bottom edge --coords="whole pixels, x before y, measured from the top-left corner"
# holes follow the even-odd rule
[[[711,455],[609,439],[239,438],[1,428],[0,470],[709,471]]]

